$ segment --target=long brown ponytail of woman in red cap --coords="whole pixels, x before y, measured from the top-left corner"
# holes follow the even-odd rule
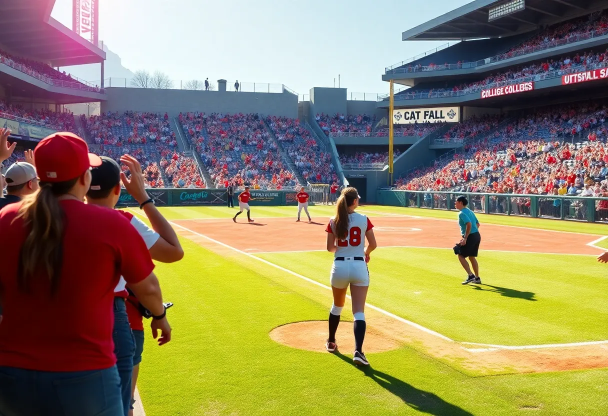
[[[17,284],[27,292],[38,273],[50,281],[51,294],[57,292],[63,267],[64,212],[58,196],[74,187],[78,178],[66,182],[40,182],[40,189],[23,198],[16,218],[22,218],[30,232],[19,252]]]

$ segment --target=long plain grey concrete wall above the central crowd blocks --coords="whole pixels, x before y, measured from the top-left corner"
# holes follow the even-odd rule
[[[126,110],[168,113],[177,116],[188,111],[204,113],[260,113],[298,117],[298,97],[291,92],[189,91],[185,89],[108,88],[102,112]]]

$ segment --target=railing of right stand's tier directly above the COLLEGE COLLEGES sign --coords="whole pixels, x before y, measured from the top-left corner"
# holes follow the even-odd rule
[[[492,89],[502,86],[514,85],[523,82],[538,82],[544,80],[550,80],[553,78],[561,78],[562,75],[573,74],[575,72],[589,71],[591,69],[599,69],[608,67],[608,61],[598,62],[594,64],[587,65],[576,65],[571,66],[570,68],[565,69],[556,69],[555,71],[544,72],[543,74],[536,75],[528,75],[527,77],[515,78],[513,80],[506,80],[495,82],[487,85],[477,85],[472,86],[465,89],[460,89],[458,91],[424,91],[424,92],[414,92],[412,94],[399,94],[395,95],[395,101],[404,101],[404,100],[421,100],[421,99],[439,99],[439,98],[449,98],[449,97],[461,97],[463,95],[475,94],[476,92],[481,92],[485,89]],[[380,96],[378,100],[385,101],[388,97]]]

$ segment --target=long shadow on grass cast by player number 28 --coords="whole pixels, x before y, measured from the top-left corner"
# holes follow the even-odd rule
[[[358,367],[353,363],[353,359],[340,352],[336,351],[334,355],[343,361],[348,362],[351,366],[361,370],[362,373],[378,383],[379,386],[384,387],[384,389],[399,397],[407,406],[412,407],[412,409],[415,409],[416,411],[436,416],[473,416],[473,414],[465,411],[465,409],[462,409],[455,404],[448,403],[434,393],[416,389],[416,387],[407,384],[405,381],[382,373],[381,371],[373,369],[371,366]]]

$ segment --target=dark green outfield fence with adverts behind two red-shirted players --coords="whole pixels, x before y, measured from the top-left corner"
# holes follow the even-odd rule
[[[314,188],[313,188],[314,189]],[[319,188],[320,189],[320,188]],[[147,189],[150,198],[154,198],[156,206],[179,207],[179,206],[214,206],[227,205],[228,194],[226,189]],[[297,205],[296,190],[250,190],[252,198],[255,198],[252,206],[285,206]],[[238,191],[233,196],[233,201],[238,205]],[[311,192],[309,204],[327,203],[324,196],[325,190]],[[125,189],[120,193],[117,206],[139,207],[139,203],[129,195]]]

